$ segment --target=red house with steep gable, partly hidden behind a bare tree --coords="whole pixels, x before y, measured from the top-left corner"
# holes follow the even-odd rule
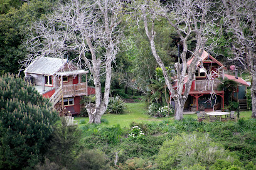
[[[188,67],[192,61],[193,58],[187,62]],[[196,70],[184,108],[189,108],[191,111],[198,111],[200,106],[204,106],[205,111],[223,109],[225,93],[224,91],[218,91],[218,85],[221,83],[221,79],[224,78],[233,79],[239,84],[237,89],[240,93],[238,91],[234,93],[234,95],[238,96],[237,101],[238,99],[242,100],[245,98],[245,89],[248,84],[242,78],[235,78],[235,76],[226,74],[227,68],[206,51],[203,51],[197,66],[198,69]],[[187,81],[188,77],[185,77],[184,84]]]

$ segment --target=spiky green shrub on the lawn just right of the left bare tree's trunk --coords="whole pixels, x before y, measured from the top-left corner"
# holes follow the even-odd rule
[[[126,109],[124,101],[119,95],[109,98],[109,104],[107,106],[107,113],[122,114]]]

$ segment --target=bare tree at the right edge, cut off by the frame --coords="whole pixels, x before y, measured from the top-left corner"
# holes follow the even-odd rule
[[[252,118],[256,118],[256,1],[222,0],[225,26],[233,32],[234,58],[252,75]]]

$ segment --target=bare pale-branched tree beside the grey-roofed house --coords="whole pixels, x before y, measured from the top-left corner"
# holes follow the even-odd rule
[[[92,73],[96,101],[95,106],[87,106],[90,123],[100,123],[109,103],[112,62],[122,39],[121,16],[118,0],[70,0],[58,4],[46,22],[36,22],[31,27],[27,63],[37,56],[63,58],[73,53],[77,55],[77,65]]]

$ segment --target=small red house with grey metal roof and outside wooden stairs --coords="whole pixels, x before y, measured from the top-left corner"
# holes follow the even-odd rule
[[[26,81],[45,98],[50,98],[53,106],[61,101],[62,108],[67,108],[72,114],[80,114],[82,96],[95,94],[95,88],[87,84],[88,71],[78,69],[68,59],[36,58],[24,74]]]

